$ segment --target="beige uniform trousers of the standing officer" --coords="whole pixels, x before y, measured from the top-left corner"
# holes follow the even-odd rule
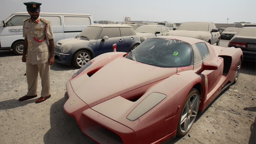
[[[38,72],[41,77],[42,91],[41,97],[46,97],[50,92],[50,65],[48,62],[32,65],[26,62],[26,76],[28,82],[27,96],[37,94]]]

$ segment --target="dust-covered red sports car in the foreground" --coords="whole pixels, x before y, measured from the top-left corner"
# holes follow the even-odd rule
[[[198,111],[237,81],[242,60],[240,48],[150,38],[79,69],[66,84],[64,110],[97,143],[161,143],[188,133]]]

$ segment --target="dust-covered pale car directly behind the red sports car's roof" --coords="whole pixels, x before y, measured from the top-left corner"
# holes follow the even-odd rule
[[[183,22],[173,30],[172,36],[187,36],[220,45],[220,33],[212,22]]]

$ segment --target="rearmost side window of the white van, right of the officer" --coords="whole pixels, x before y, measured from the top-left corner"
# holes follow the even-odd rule
[[[64,24],[66,26],[84,26],[91,25],[91,21],[89,17],[64,16]]]

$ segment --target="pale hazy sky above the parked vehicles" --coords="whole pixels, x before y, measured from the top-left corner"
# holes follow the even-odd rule
[[[86,13],[93,20],[211,21],[256,23],[256,0],[34,0],[41,12]],[[26,12],[28,0],[1,0],[0,20]]]

